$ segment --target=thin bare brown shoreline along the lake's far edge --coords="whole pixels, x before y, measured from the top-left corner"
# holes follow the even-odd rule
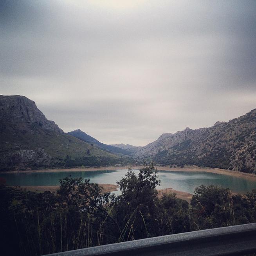
[[[1,171],[1,173],[51,173],[51,172],[73,172],[73,171],[107,171],[107,170],[120,170],[120,169],[128,169],[132,167],[132,169],[141,169],[143,166],[112,166],[112,167],[92,167],[92,168],[70,168],[70,169],[36,169],[36,170],[22,170],[22,171]],[[217,174],[224,174],[238,178],[246,178],[249,180],[253,180],[256,182],[256,175],[252,173],[243,173],[241,171],[230,171],[226,169],[220,168],[200,168],[200,167],[186,167],[186,168],[179,168],[174,167],[170,168],[168,166],[156,166],[158,171],[200,171],[200,172],[208,172],[208,173],[217,173]]]

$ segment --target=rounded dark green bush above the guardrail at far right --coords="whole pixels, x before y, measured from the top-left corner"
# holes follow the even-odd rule
[[[256,221],[256,190],[245,196],[228,188],[200,186],[191,199],[194,229],[225,227]]]

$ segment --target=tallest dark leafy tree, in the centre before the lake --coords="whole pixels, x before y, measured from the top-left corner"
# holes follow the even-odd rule
[[[119,241],[154,236],[159,183],[153,164],[144,164],[138,175],[130,168],[117,182],[122,194],[114,198],[112,214],[122,231]]]

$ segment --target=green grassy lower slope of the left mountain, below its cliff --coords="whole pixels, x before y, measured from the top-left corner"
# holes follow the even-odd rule
[[[11,129],[11,127],[9,127]],[[91,146],[90,144],[77,139],[71,135],[65,133],[57,133],[54,131],[45,132],[39,125],[34,128],[31,127],[31,132],[22,133],[18,128],[14,127],[12,130],[3,134],[0,143],[0,170],[6,171],[20,166],[32,169],[38,169],[42,167],[47,168],[63,168],[81,166],[105,166],[110,164],[123,164],[127,162],[132,164],[134,160],[129,157],[121,157],[119,155],[113,155],[112,153],[106,152],[99,149],[98,147]],[[18,143],[17,143],[18,142]],[[19,157],[18,150],[44,150],[44,153],[50,154],[50,163],[44,165],[42,162],[38,164],[36,159],[33,157],[24,162]],[[69,156],[72,160],[67,159]],[[93,157],[94,159],[83,159],[84,156]],[[38,155],[38,158],[41,156]],[[81,164],[81,161],[83,163]],[[66,163],[66,164],[65,164]]]

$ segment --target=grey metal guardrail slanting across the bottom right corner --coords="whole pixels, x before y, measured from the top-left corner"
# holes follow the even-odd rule
[[[220,256],[256,252],[256,223],[48,254],[51,256]]]

